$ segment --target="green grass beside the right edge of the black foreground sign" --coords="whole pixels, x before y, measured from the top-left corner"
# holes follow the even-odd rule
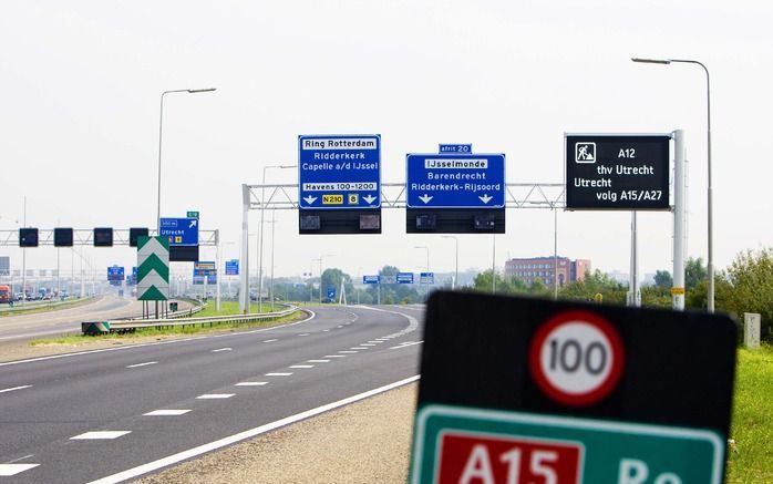
[[[773,348],[738,354],[728,484],[773,483]],[[732,446],[731,446],[732,447]]]

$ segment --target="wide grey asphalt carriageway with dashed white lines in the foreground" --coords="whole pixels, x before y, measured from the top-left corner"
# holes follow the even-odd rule
[[[312,310],[284,327],[0,363],[0,483],[122,482],[416,375],[420,308]]]

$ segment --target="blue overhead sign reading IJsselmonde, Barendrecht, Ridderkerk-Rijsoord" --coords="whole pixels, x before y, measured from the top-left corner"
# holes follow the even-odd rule
[[[409,154],[409,208],[503,208],[505,155]]]

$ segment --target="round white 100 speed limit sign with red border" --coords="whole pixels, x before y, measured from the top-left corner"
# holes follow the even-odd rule
[[[620,337],[601,317],[565,311],[542,326],[529,350],[532,375],[539,389],[566,405],[588,405],[611,392],[625,362]]]

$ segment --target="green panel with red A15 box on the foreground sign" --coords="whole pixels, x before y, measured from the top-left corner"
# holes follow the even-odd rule
[[[705,430],[427,404],[411,482],[721,484],[723,456]]]

